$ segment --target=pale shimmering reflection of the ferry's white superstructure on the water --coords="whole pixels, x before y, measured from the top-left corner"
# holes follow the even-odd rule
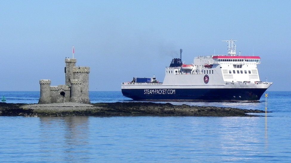
[[[268,146],[261,117],[193,117],[193,156],[211,156],[210,162],[248,161]],[[203,150],[201,150],[203,149]]]

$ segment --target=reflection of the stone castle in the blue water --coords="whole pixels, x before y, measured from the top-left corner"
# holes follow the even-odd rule
[[[89,117],[40,117],[41,153],[58,160],[76,161],[90,159]]]

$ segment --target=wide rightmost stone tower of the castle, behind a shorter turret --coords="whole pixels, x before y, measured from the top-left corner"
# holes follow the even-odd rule
[[[89,73],[90,67],[73,67],[74,79],[78,79],[82,84],[81,89],[81,103],[90,104],[89,99]]]

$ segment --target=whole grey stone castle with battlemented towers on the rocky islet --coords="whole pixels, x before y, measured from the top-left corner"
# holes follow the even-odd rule
[[[51,80],[39,80],[40,98],[38,103],[78,102],[90,104],[90,67],[76,67],[75,58],[66,58],[66,85],[50,86]]]

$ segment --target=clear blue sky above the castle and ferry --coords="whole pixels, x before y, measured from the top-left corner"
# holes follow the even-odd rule
[[[164,78],[173,57],[260,56],[270,91],[291,91],[291,1],[0,1],[0,90],[38,91],[65,83],[75,47],[89,66],[90,91],[120,91],[134,76]]]

